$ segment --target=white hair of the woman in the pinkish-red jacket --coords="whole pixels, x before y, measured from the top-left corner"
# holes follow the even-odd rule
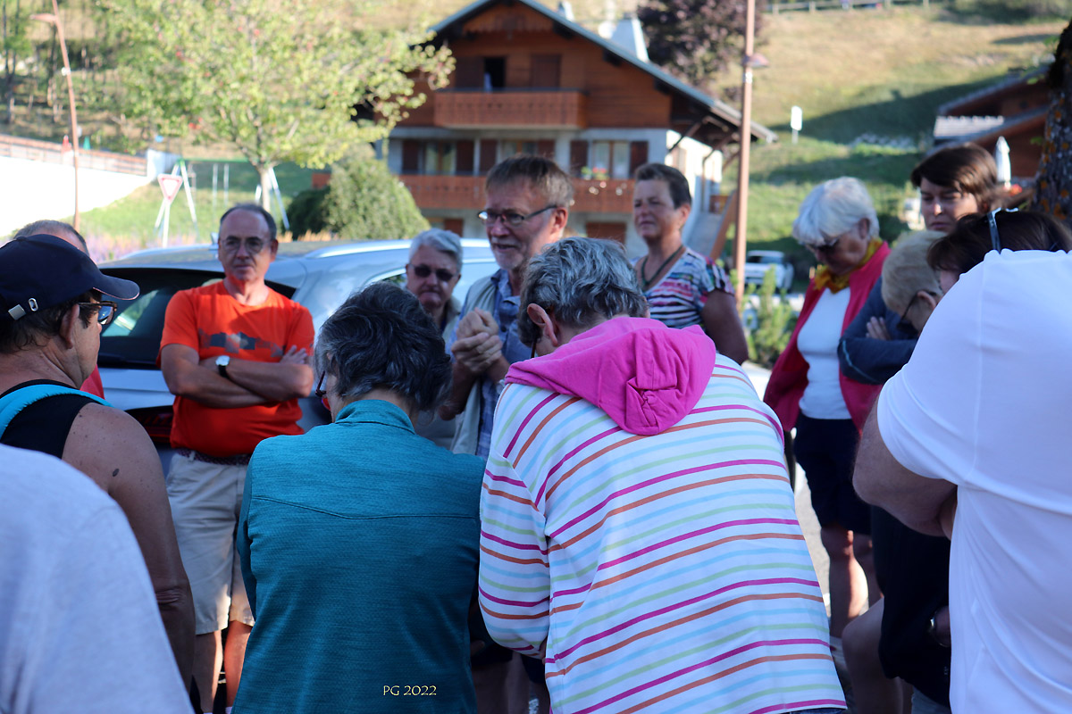
[[[803,245],[822,245],[867,218],[868,234],[878,237],[878,215],[860,179],[843,176],[823,181],[801,203],[793,238]]]

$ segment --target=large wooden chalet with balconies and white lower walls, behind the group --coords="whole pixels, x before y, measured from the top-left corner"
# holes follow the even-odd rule
[[[478,0],[433,30],[455,72],[396,127],[387,151],[433,226],[482,237],[483,174],[507,156],[536,153],[574,177],[570,232],[625,241],[637,255],[644,248],[630,177],[661,162],[689,178],[685,240],[710,250],[721,152],[739,141],[741,113],[650,63],[635,19],[614,35],[624,30],[631,42],[613,42],[535,0]],[[751,136],[776,138],[756,123]]]

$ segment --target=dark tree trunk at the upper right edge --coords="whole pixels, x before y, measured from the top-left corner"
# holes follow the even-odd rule
[[[1031,210],[1072,228],[1072,22],[1061,32],[1046,81],[1049,110]]]

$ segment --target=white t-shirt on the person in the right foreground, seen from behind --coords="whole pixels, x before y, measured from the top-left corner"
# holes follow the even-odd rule
[[[954,712],[1072,708],[1072,256],[987,254],[879,398],[893,456],[956,484]]]

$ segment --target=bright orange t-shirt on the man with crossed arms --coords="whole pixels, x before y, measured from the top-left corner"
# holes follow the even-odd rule
[[[180,290],[167,304],[160,348],[185,345],[198,356],[229,354],[253,362],[279,362],[291,347],[313,350],[313,319],[298,303],[270,290],[259,305],[238,303],[213,283]],[[159,358],[158,358],[159,360]],[[262,439],[301,434],[297,399],[217,409],[175,397],[172,445],[212,456],[251,454]]]

